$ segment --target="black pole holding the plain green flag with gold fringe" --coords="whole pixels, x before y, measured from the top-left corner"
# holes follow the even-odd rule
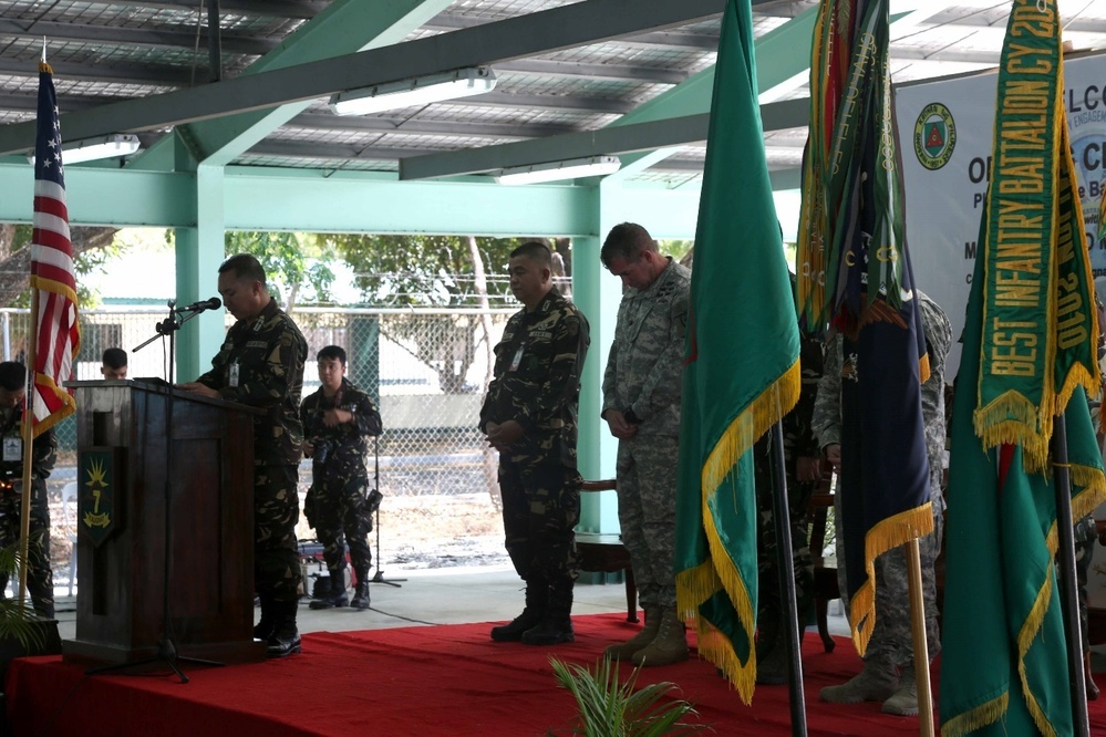
[[[772,429],[772,519],[776,532],[776,574],[779,579],[779,621],[787,636],[787,695],[792,710],[792,734],[806,737],[806,698],[803,693],[803,648],[795,593],[795,558],[792,552],[790,507],[787,505],[787,477],[784,459],[784,423],[777,419]],[[777,645],[778,647],[778,645]]]

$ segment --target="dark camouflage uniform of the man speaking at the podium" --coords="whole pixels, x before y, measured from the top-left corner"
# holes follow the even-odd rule
[[[266,411],[254,417],[254,585],[262,599],[262,615],[266,599],[299,599],[296,522],[304,361],[307,341],[270,300],[257,318],[239,320],[227,331],[211,370],[196,380],[228,402]]]

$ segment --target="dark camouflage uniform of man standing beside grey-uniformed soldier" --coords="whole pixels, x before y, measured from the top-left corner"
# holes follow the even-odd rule
[[[480,432],[509,419],[525,429],[499,454],[503,526],[515,570],[528,592],[548,587],[550,609],[566,601],[571,609],[579,569],[577,413],[589,343],[587,319],[550,289],[533,312],[520,310],[507,322],[480,408]]]

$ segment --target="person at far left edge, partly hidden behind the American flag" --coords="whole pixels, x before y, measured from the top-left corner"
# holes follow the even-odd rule
[[[23,403],[27,398],[27,367],[14,361],[0,363],[0,547],[19,543],[22,519]],[[54,468],[58,439],[48,429],[31,447],[31,521],[27,546],[27,591],[39,616],[54,616],[54,579],[50,570],[50,508],[46,478]],[[0,599],[8,587],[8,573],[0,574]]]

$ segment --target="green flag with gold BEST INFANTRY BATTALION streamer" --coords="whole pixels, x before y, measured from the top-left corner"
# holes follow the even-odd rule
[[[1063,414],[1078,519],[1106,499],[1084,390],[1098,325],[1063,111],[1056,0],[1012,4],[953,405],[941,731],[1073,730],[1050,440]]]

